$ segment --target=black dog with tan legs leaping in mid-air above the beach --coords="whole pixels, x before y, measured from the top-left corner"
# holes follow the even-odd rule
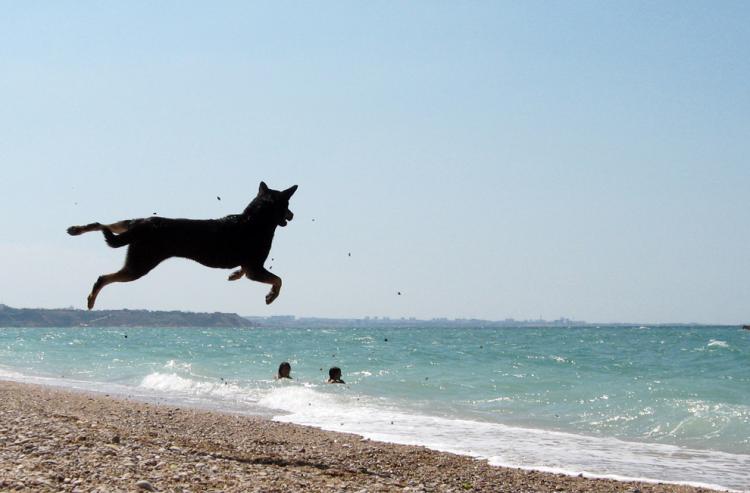
[[[286,226],[294,217],[289,199],[297,185],[284,191],[271,190],[260,182],[258,195],[242,214],[221,219],[169,219],[148,217],[127,219],[112,224],[91,223],[71,226],[68,234],[80,235],[101,231],[107,245],[119,248],[128,245],[125,265],[117,272],[99,276],[88,297],[91,310],[96,296],[113,282],[135,281],[170,257],[195,260],[207,267],[232,269],[235,281],[243,275],[253,281],[271,285],[266,304],[279,296],[281,278],[268,272],[263,264],[271,250],[277,226]]]

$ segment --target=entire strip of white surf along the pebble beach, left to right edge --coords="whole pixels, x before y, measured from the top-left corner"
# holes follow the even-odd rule
[[[262,415],[279,422],[483,458],[497,466],[621,481],[748,488],[744,471],[750,470],[750,455],[430,416],[383,399],[357,395],[346,386],[288,381],[253,386],[169,371],[153,372],[135,387],[27,376],[1,368],[0,378]]]

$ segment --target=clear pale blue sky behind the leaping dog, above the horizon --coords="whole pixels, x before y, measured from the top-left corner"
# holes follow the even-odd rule
[[[300,186],[273,305],[170,260],[97,307],[750,320],[746,2],[0,8],[0,303],[83,307],[120,267],[71,224],[265,180]]]

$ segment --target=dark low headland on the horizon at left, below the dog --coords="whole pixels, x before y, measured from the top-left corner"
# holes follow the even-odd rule
[[[252,327],[236,313],[11,308],[0,304],[0,327]]]

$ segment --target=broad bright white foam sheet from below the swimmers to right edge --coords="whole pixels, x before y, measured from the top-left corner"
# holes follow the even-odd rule
[[[283,422],[356,433],[482,457],[491,464],[619,480],[746,489],[750,455],[413,414],[348,389],[276,388],[259,404],[285,411]],[[707,480],[708,478],[708,480]]]

